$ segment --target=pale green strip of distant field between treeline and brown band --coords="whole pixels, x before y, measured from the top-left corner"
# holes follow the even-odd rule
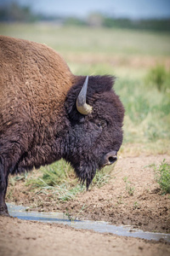
[[[46,24],[1,25],[0,32],[12,37],[48,44],[62,53],[170,55],[170,35],[165,32],[138,32]]]

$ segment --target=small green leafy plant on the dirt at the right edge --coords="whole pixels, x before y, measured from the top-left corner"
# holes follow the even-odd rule
[[[170,194],[170,164],[164,159],[160,166],[154,166],[156,182],[163,194]]]

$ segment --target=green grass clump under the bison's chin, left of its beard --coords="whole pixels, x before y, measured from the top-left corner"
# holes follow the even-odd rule
[[[42,167],[40,173],[39,177],[31,176],[26,180],[26,186],[37,194],[52,193],[59,201],[69,201],[85,190],[85,186],[76,183],[77,179],[71,166],[64,160]]]

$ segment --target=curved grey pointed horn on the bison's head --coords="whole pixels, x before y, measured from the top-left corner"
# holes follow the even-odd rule
[[[77,97],[77,111],[82,114],[92,113],[92,107],[86,103],[88,89],[88,76],[82,85],[82,90]]]

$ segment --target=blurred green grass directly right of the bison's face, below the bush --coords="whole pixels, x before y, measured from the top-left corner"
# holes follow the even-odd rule
[[[170,87],[169,87],[170,88]],[[170,140],[169,94],[147,88],[144,81],[120,80],[116,92],[126,109],[124,143],[156,143]]]

